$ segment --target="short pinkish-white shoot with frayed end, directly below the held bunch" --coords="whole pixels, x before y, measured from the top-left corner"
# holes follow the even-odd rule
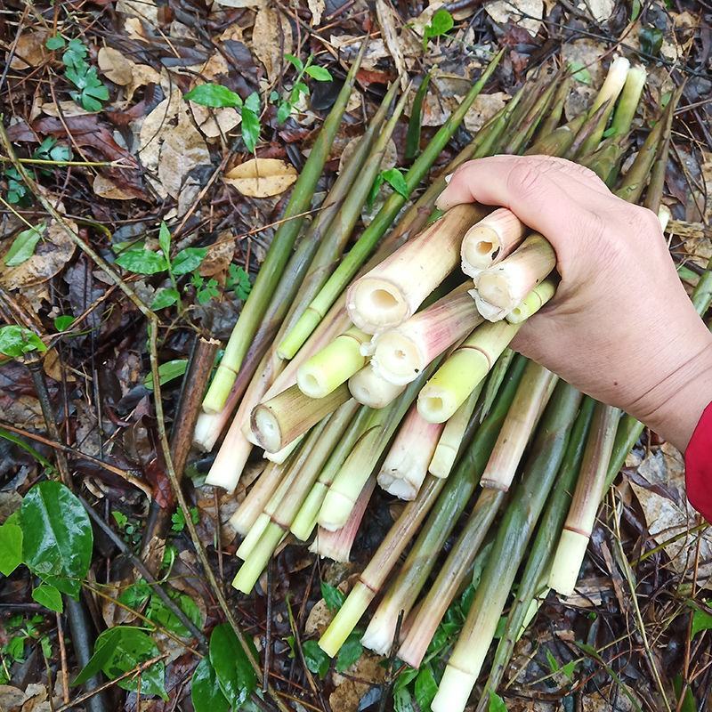
[[[428,423],[413,404],[381,465],[379,487],[395,497],[415,499],[444,427],[444,423]]]

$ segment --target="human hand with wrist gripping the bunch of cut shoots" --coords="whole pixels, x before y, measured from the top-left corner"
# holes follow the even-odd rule
[[[554,299],[512,346],[684,450],[712,401],[712,335],[670,259],[658,217],[593,171],[543,156],[470,161],[437,206],[509,208],[557,257]]]

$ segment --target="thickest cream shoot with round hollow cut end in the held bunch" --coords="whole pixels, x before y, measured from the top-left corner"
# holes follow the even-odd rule
[[[346,293],[353,323],[367,334],[376,334],[409,319],[457,268],[462,238],[485,210],[472,204],[453,207],[353,282]]]

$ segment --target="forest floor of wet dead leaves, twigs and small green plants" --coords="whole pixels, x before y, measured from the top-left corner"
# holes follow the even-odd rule
[[[443,7],[453,26],[427,36]],[[255,593],[239,595],[229,586],[239,542],[227,521],[262,461],[248,466],[236,494],[206,487],[214,454],[189,452],[191,433],[182,427],[185,408],[198,409],[201,395],[183,378],[196,340],[224,343],[230,335],[289,186],[364,36],[357,88],[320,194],[393,81],[409,77],[417,85],[431,72],[425,141],[490,54],[506,48],[436,161],[437,172],[538,67],[576,70],[565,108],[570,117],[601,84],[603,62],[623,53],[649,73],[633,136],[638,145],[684,82],[667,168],[664,202],[673,214],[667,235],[688,287],[712,257],[708,2],[6,0],[0,4],[0,324],[28,328],[43,345],[24,343],[24,353],[13,354],[3,340],[10,332],[3,336],[0,327],[0,352],[9,354],[0,355],[0,525],[11,524],[0,527],[0,571],[8,572],[0,575],[0,712],[191,710],[194,669],[227,611],[261,653],[257,687],[269,684],[265,701],[252,698],[245,709],[417,712],[422,704],[414,682],[397,682],[401,669],[393,660],[358,643],[330,666],[314,657],[313,641],[333,616],[335,597],[368,562],[399,505],[376,492],[351,562],[320,561],[287,540]],[[306,91],[293,93],[310,58]],[[183,99],[205,82],[243,101],[256,97],[254,119]],[[384,167],[406,166],[407,129],[405,116]],[[239,170],[252,158],[279,164],[269,165],[267,181],[257,181]],[[163,245],[161,223],[172,265],[157,257],[119,270],[126,246]],[[154,305],[156,320],[142,304]],[[159,393],[151,376],[158,366]],[[169,442],[172,456],[180,456],[176,469],[191,522],[176,509]],[[69,590],[59,584],[38,590],[37,570],[15,568],[3,554],[13,513],[48,475],[93,512],[93,540],[84,553],[90,565]],[[668,709],[712,704],[712,633],[705,633],[712,628],[706,603],[712,535],[684,498],[682,457],[645,433],[615,490],[603,506],[607,514],[578,594],[549,595],[517,645],[499,691],[510,712],[659,710],[660,686]],[[52,507],[44,514],[51,527]],[[81,541],[75,544],[61,554],[84,555]],[[205,575],[203,551],[221,590]],[[174,605],[146,584],[136,568],[141,562]],[[81,610],[62,607],[57,589],[81,589]],[[176,605],[194,630],[176,617]],[[129,633],[107,637],[121,628]],[[440,631],[433,668],[455,630]],[[113,671],[103,670],[105,689],[87,699],[72,682],[101,631],[124,657],[114,660]],[[134,677],[109,679],[136,669],[140,695]]]

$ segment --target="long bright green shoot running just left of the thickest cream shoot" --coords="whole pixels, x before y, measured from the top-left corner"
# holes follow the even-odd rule
[[[346,287],[359,270],[360,265],[368,259],[368,255],[370,255],[374,247],[376,247],[378,240],[383,237],[384,232],[388,230],[393,220],[401,211],[401,207],[405,205],[407,196],[417,188],[425,177],[425,174],[427,174],[430,166],[433,165],[435,158],[440,155],[441,150],[449,142],[452,134],[457,130],[457,126],[462,123],[467,109],[472,106],[473,101],[481,92],[482,87],[490,79],[492,72],[496,69],[499,60],[502,58],[502,54],[503,51],[500,51],[495,58],[490,61],[490,65],[482,72],[479,81],[473,85],[460,106],[453,112],[448,121],[441,126],[425,150],[423,150],[413,163],[413,166],[410,167],[408,173],[405,175],[406,196],[401,195],[398,191],[394,191],[386,199],[384,206],[381,207],[376,217],[369,223],[368,228],[363,231],[349,254],[344,257],[342,262],[329,277],[321,288],[319,295],[312,300],[312,303],[303,313],[295,325],[295,328],[293,328],[283,339],[282,343],[279,344],[278,351],[284,358],[289,359],[294,356],[307,336],[312,333],[320,320],[323,319],[329,306],[335,302],[336,297],[341,294],[344,287]]]

